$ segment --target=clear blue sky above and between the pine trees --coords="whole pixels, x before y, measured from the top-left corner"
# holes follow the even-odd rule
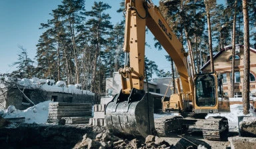
[[[95,0],[99,1],[99,0]],[[101,0],[102,1],[102,0]],[[93,0],[85,0],[85,9],[91,10]],[[116,13],[119,9],[121,0],[104,0],[111,5],[107,11],[112,17],[113,25],[121,21],[122,13]],[[153,0],[155,5],[159,5],[158,0]],[[43,33],[40,30],[40,23],[47,23],[51,19],[49,13],[61,5],[61,0],[0,0],[0,74],[11,73],[16,68],[11,67],[18,59],[21,53],[19,46],[27,49],[29,57],[34,59],[36,54],[36,45],[39,36]],[[157,51],[153,47],[153,35],[149,33],[146,37],[147,43],[151,48],[146,47],[146,56],[151,61],[159,65],[159,69],[170,70],[170,64],[165,60],[167,53]]]

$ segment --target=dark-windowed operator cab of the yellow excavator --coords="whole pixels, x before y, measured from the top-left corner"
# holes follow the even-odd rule
[[[215,76],[211,74],[197,75],[195,78],[195,102],[197,106],[215,106]]]

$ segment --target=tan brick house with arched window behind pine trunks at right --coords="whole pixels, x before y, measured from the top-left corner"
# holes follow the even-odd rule
[[[242,97],[243,92],[243,45],[236,45],[235,48],[235,86],[234,97]],[[231,66],[232,66],[232,47],[227,46],[219,51],[214,57],[214,69],[223,75],[223,90],[230,97],[231,94]],[[203,73],[211,72],[210,61],[202,68]],[[256,50],[250,48],[250,91],[255,90],[256,77]]]

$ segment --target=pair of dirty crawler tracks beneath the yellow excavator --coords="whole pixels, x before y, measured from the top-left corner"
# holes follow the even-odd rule
[[[194,125],[197,120],[199,119],[163,116],[155,119],[155,130],[158,136],[170,136],[185,131],[188,125]],[[225,117],[215,116],[203,120],[203,138],[207,140],[225,140],[228,130],[228,121]]]

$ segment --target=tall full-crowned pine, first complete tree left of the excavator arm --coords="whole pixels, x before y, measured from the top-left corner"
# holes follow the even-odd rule
[[[93,71],[91,76],[91,90],[96,92],[97,94],[101,93],[101,84],[102,78],[99,77],[101,72],[101,51],[103,51],[102,45],[107,43],[107,36],[109,35],[110,29],[113,28],[109,19],[111,17],[109,14],[104,13],[105,10],[110,9],[107,3],[103,2],[94,2],[91,11],[87,11],[85,14],[91,19],[89,19],[86,23],[87,27],[90,29],[90,43],[91,45],[95,45],[91,52],[94,53],[93,57]],[[97,77],[98,76],[98,77]]]

